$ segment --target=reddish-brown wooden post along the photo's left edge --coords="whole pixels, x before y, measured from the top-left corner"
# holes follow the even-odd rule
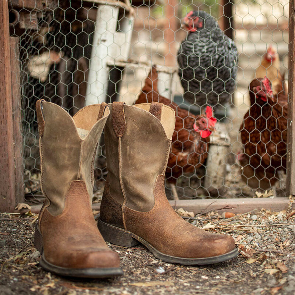
[[[8,0],[0,1],[0,212],[15,206]]]

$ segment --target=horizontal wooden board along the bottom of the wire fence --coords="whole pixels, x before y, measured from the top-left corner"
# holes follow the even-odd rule
[[[216,210],[219,213],[245,213],[254,209],[271,209],[272,211],[282,211],[288,208],[288,198],[241,198],[241,199],[207,199],[207,200],[177,200],[169,201],[174,209],[183,208],[187,211],[193,211],[194,214],[204,213],[210,210]],[[33,213],[39,213],[42,205],[32,206]],[[292,206],[294,209],[295,205]],[[93,210],[100,209],[100,203],[92,204]]]

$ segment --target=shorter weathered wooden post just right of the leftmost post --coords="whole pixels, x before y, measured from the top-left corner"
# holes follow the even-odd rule
[[[15,203],[24,202],[24,165],[22,140],[22,101],[19,65],[19,37],[10,37],[12,119],[14,143]]]

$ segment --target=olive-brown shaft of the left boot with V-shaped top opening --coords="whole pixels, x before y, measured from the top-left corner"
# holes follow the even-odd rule
[[[94,157],[109,108],[106,104],[86,106],[73,118],[60,106],[44,100],[37,101],[36,109],[41,188],[50,203],[47,210],[56,216],[63,211],[65,195],[74,180],[85,182],[92,200]]]

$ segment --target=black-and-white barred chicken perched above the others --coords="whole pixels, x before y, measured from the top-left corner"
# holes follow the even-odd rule
[[[204,11],[189,12],[184,26],[188,33],[177,55],[184,98],[199,106],[220,107],[231,103],[238,58],[234,42]]]

